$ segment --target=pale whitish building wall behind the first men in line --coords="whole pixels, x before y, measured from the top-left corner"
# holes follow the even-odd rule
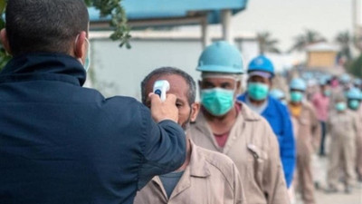
[[[110,39],[90,40],[89,86],[106,96],[124,95],[140,99],[140,82],[152,70],[173,66],[199,80],[197,61],[203,51],[195,40],[138,40],[131,41],[132,48],[119,48],[119,42]],[[244,67],[258,53],[256,41],[236,41],[243,53]]]

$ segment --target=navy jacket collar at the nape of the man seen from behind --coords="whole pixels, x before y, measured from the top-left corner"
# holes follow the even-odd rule
[[[86,72],[81,63],[63,53],[25,53],[14,57],[0,73],[0,82],[58,80],[83,85]]]

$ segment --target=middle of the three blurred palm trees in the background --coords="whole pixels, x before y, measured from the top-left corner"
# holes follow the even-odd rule
[[[295,44],[291,46],[291,51],[302,51],[304,48],[310,44],[315,44],[319,42],[325,42],[325,38],[321,36],[317,31],[305,30],[304,34],[299,34],[295,38]]]

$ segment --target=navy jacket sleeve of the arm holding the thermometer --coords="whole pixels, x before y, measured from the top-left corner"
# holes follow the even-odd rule
[[[174,121],[152,120],[146,106],[139,107],[144,143],[138,170],[138,189],[142,189],[156,175],[178,169],[186,159],[185,131]]]

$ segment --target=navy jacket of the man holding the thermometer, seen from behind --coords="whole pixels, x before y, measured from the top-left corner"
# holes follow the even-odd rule
[[[133,203],[186,158],[185,133],[129,97],[82,88],[68,55],[32,53],[0,73],[0,203]],[[125,76],[119,76],[122,78]]]

